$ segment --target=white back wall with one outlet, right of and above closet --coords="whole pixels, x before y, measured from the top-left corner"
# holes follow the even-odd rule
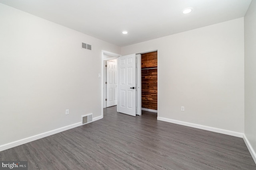
[[[244,19],[122,47],[121,54],[156,49],[158,119],[213,127],[242,137]]]

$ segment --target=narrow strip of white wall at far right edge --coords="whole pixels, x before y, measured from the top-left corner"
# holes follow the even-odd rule
[[[256,1],[252,0],[244,17],[245,129],[256,162]]]

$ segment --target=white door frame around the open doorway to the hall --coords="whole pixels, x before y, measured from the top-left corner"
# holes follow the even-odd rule
[[[104,101],[104,61],[117,59],[120,56],[121,56],[120,54],[102,50],[102,62],[101,62],[101,117],[102,118],[103,118],[103,107],[104,107],[104,103],[103,103]],[[117,69],[118,69],[118,64],[117,64]]]

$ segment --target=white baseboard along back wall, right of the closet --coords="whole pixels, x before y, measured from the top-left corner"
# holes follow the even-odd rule
[[[167,122],[170,122],[170,123],[175,123],[175,124],[179,124],[179,125],[194,127],[194,128],[203,129],[203,130],[206,130],[206,131],[222,133],[222,134],[225,134],[225,135],[230,135],[230,136],[235,136],[235,137],[240,137],[240,138],[242,138],[244,136],[243,133],[228,131],[228,130],[224,130],[224,129],[218,129],[218,128],[215,128],[215,127],[208,127],[208,126],[198,125],[198,124],[194,124],[194,123],[188,123],[188,122],[184,122],[184,121],[166,119],[166,118],[163,118],[163,117],[157,117],[157,119],[160,120],[160,121],[167,121]]]

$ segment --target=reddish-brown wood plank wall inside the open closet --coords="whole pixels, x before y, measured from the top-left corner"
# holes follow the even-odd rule
[[[141,55],[141,107],[157,111],[157,51]]]

